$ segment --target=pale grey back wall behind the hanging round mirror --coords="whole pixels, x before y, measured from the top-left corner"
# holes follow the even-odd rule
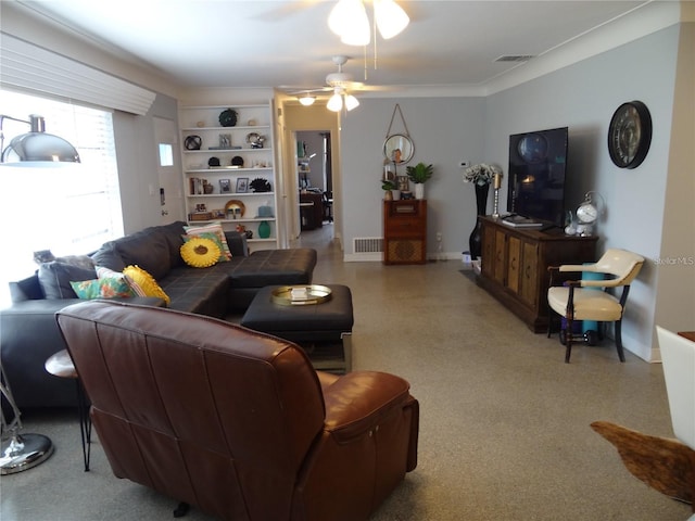
[[[353,238],[382,237],[383,141],[396,103],[415,144],[408,165],[424,162],[434,166],[425,185],[428,250],[435,251],[435,234],[441,231],[442,250],[460,259],[477,216],[473,188],[463,182],[458,164],[462,160],[489,161],[483,155],[483,98],[363,99],[358,109],[343,117],[345,258],[359,259],[353,252]],[[396,116],[391,134],[405,132]],[[399,167],[397,175],[405,175],[405,168]]]

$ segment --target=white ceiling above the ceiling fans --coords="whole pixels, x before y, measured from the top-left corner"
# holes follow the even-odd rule
[[[480,86],[649,3],[640,1],[404,1],[410,25],[368,49],[342,45],[327,18],[336,0],[17,0],[180,88],[320,87],[344,71],[374,86]],[[368,2],[370,3],[370,2]],[[368,8],[371,18],[371,9]],[[367,56],[365,67],[365,55]]]

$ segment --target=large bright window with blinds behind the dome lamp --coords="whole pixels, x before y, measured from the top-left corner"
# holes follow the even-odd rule
[[[33,254],[85,254],[123,236],[123,215],[111,112],[0,90],[0,113],[46,118],[46,131],[70,141],[79,164],[27,168],[0,166],[0,207],[11,224],[0,256],[0,304],[9,303],[8,282],[36,269]],[[4,119],[2,145],[29,131]]]

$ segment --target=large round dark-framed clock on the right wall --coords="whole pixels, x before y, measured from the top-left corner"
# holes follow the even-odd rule
[[[608,126],[608,153],[620,168],[636,168],[652,144],[652,115],[641,101],[630,101],[618,107]]]

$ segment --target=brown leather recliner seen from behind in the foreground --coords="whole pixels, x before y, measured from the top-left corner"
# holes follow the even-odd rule
[[[56,319],[114,474],[225,520],[358,521],[417,465],[393,374],[314,370],[222,320],[89,301]]]

